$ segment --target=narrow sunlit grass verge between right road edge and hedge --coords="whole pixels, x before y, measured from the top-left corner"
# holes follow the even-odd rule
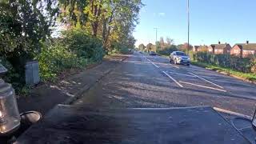
[[[191,61],[191,64],[193,64],[195,66],[204,67],[206,69],[218,71],[218,72],[221,72],[223,74],[230,75],[230,76],[243,78],[243,79],[246,79],[246,80],[250,80],[252,82],[256,82],[256,74],[253,74],[253,73],[243,73],[243,72],[240,72],[240,71],[237,71],[237,70],[232,70],[232,69],[221,67],[221,66],[211,65],[211,64],[208,64],[208,63],[204,63],[204,62]]]

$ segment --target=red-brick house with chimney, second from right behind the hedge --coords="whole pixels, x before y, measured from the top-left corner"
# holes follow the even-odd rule
[[[208,46],[208,52],[213,54],[230,54],[231,49],[232,47],[230,46],[230,44],[221,44],[221,42]]]

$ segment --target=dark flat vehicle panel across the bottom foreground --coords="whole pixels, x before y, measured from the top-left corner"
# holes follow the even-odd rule
[[[111,109],[59,105],[18,138],[37,143],[248,143],[210,107]]]

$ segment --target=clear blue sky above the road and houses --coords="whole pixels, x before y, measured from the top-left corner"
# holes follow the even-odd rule
[[[140,23],[134,31],[140,43],[155,42],[162,36],[175,44],[187,41],[186,0],[144,0]],[[190,43],[256,43],[256,0],[190,0]]]

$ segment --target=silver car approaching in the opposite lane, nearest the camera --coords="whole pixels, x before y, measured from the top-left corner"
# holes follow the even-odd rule
[[[174,64],[184,64],[190,66],[190,57],[182,51],[174,51],[170,54],[170,63]]]

